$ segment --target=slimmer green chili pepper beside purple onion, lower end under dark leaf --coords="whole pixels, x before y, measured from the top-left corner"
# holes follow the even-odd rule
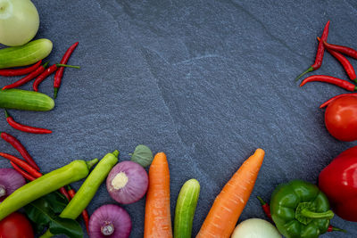
[[[108,176],[112,167],[118,162],[118,151],[107,153],[102,160],[95,166],[93,171],[87,176],[86,181],[80,186],[79,191],[68,203],[67,207],[62,210],[60,217],[76,219],[87,208],[89,202],[95,196],[99,186]],[[46,231],[40,238],[52,237],[53,234],[49,230]]]

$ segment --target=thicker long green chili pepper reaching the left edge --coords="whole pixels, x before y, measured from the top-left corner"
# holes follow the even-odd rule
[[[95,165],[98,159],[84,161],[74,160],[70,164],[58,168],[44,176],[38,177],[29,184],[21,186],[3,202],[0,203],[0,220],[7,217],[17,209],[35,201],[38,198],[52,193],[64,185],[69,185],[76,182],[89,173],[89,169]]]

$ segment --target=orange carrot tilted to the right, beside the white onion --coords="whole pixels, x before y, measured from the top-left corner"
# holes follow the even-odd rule
[[[262,149],[257,149],[230,178],[213,202],[196,238],[230,237],[253,191],[264,154]]]

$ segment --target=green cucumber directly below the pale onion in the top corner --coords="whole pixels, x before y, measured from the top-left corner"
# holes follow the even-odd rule
[[[0,69],[33,64],[47,57],[52,51],[52,42],[37,39],[26,45],[7,47],[0,50]]]

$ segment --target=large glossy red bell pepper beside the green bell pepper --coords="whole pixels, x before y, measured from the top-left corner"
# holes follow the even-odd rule
[[[340,153],[319,176],[336,215],[357,222],[357,146]]]

